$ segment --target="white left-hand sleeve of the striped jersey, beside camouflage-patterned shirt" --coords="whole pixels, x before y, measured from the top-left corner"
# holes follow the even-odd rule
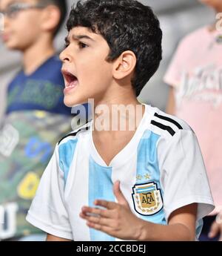
[[[26,220],[48,234],[73,240],[64,203],[64,173],[58,165],[58,147],[41,177]]]

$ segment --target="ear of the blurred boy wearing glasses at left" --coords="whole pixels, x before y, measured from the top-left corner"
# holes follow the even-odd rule
[[[58,26],[61,12],[55,5],[48,5],[41,16],[41,27],[45,31],[53,31]]]

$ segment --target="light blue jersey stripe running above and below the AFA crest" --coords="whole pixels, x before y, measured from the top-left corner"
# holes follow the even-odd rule
[[[142,180],[138,181],[138,184],[155,182],[158,189],[161,189],[160,184],[160,170],[158,166],[158,155],[157,155],[157,142],[159,135],[152,131],[145,131],[141,141],[138,145],[138,157],[137,157],[137,176],[142,177]],[[149,174],[150,180],[146,180],[144,177]],[[161,189],[163,196],[163,191]],[[150,221],[152,223],[166,224],[164,209],[161,209],[156,214],[144,216],[139,215],[141,219]]]

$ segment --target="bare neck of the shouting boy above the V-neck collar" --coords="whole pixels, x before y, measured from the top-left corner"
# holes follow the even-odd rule
[[[103,113],[103,116],[96,114],[96,107],[103,105],[107,108],[106,110],[104,108],[107,111],[106,114],[104,115]],[[124,107],[129,106],[132,109],[129,108],[129,111],[117,111],[118,114],[116,115],[116,109],[118,107],[122,110]],[[138,102],[132,90],[125,90],[125,92],[124,90],[121,91],[121,89],[116,90],[109,100],[101,100],[101,102],[95,103],[92,140],[98,154],[108,166],[115,156],[132,140],[138,129],[138,125],[141,123],[144,112],[145,106]],[[116,118],[116,116],[118,117]],[[104,122],[107,125],[104,125]],[[106,128],[100,130],[99,126],[102,123],[103,125],[101,126]],[[113,124],[115,128],[113,128]]]

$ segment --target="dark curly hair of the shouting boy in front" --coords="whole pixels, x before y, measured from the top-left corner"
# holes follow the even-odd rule
[[[107,61],[132,50],[137,58],[132,87],[136,96],[158,69],[162,59],[162,31],[152,9],[135,0],[88,0],[73,5],[67,30],[89,27],[110,46]]]

